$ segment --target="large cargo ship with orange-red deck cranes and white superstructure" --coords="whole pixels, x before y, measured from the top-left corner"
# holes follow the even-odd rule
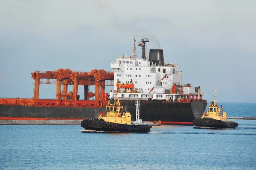
[[[32,72],[33,98],[0,98],[0,124],[37,124],[39,121],[80,124],[83,119],[98,118],[100,112],[105,112],[108,101],[115,98],[120,99],[126,112],[131,112],[132,121],[136,117],[137,98],[143,121],[192,124],[195,118],[201,118],[207,107],[201,87],[182,85],[182,71],[178,65],[164,63],[163,49],[150,49],[146,58],[148,38],[141,39],[142,58],[138,58],[135,42],[134,37],[131,56],[123,55],[111,62],[112,72],[102,69]],[[40,84],[56,84],[56,99],[40,99]],[[73,90],[68,92],[68,86]],[[78,86],[84,86],[84,100],[78,95]],[[95,86],[94,93],[89,90],[90,86]],[[105,86],[113,86],[110,94],[105,92]]]

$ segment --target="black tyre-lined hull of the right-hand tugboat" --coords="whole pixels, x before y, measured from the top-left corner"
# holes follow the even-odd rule
[[[238,123],[234,121],[221,121],[212,118],[198,118],[193,120],[193,125],[196,127],[210,127],[219,129],[236,129]]]

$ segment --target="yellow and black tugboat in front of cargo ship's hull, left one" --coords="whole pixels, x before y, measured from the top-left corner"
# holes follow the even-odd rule
[[[85,130],[96,130],[104,132],[127,132],[127,133],[148,133],[151,129],[149,124],[141,124],[139,105],[140,101],[136,100],[136,121],[133,124],[131,122],[131,113],[122,112],[123,107],[120,105],[119,98],[114,99],[114,103],[111,104],[108,101],[106,106],[107,112],[101,112],[99,118],[84,119],[81,121],[81,127]],[[125,109],[126,110],[126,109]]]

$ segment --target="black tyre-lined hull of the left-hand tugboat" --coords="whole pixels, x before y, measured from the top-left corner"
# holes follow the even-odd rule
[[[81,127],[85,130],[103,132],[148,133],[152,126],[149,124],[117,124],[97,119],[84,119],[81,121]]]

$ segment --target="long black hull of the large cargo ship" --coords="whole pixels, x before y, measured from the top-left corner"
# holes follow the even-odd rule
[[[134,101],[121,100],[135,121]],[[162,121],[162,124],[192,124],[201,118],[207,107],[206,102],[168,103],[163,101],[140,101],[140,119]],[[98,118],[105,107],[29,107],[0,105],[0,120],[83,120]]]

